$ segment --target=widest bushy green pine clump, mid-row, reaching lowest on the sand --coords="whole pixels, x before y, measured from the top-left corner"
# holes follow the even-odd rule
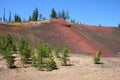
[[[40,41],[37,45],[37,67],[39,70],[47,69],[53,70],[56,67],[51,47]]]

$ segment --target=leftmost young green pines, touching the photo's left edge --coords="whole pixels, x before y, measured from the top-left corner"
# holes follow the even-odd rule
[[[15,45],[12,37],[7,34],[0,37],[0,53],[5,57],[7,67],[11,68],[14,65],[12,54],[15,52]]]

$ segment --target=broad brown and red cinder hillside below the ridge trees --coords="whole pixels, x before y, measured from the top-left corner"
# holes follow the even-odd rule
[[[118,56],[120,30],[110,27],[73,24],[62,19],[51,19],[27,23],[0,24],[0,34],[11,34],[16,41],[25,36],[33,46],[39,40],[49,43],[52,49],[66,42],[74,53],[94,55],[98,48],[103,57]]]

